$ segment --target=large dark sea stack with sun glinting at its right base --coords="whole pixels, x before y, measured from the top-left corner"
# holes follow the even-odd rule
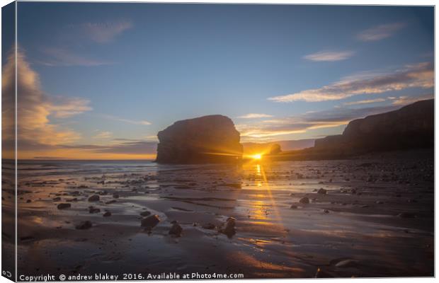
[[[234,163],[242,158],[239,132],[226,116],[177,121],[157,136],[158,163]]]

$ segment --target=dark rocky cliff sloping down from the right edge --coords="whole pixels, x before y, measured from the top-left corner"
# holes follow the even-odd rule
[[[315,141],[312,151],[341,156],[434,146],[434,100],[349,122],[343,134]]]

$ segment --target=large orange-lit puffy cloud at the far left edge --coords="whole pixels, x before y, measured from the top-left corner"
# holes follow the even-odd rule
[[[2,120],[4,122],[2,141],[13,142],[15,108],[15,63],[14,54],[8,56],[2,66]],[[42,91],[38,74],[30,68],[21,50],[17,51],[17,112],[18,146],[38,144],[42,147],[69,144],[81,138],[80,134],[66,127],[52,123],[50,116],[64,118],[91,110],[89,101],[80,98],[53,98]],[[77,108],[75,109],[75,107]],[[19,151],[20,153],[20,151]]]

